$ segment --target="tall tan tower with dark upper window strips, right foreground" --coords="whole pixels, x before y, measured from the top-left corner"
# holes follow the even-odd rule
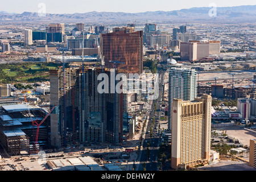
[[[171,167],[186,169],[206,164],[210,154],[212,97],[195,101],[174,99],[172,105]]]

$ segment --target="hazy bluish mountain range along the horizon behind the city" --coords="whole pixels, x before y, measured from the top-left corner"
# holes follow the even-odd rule
[[[96,12],[75,14],[46,14],[39,16],[38,13],[24,12],[22,14],[9,14],[0,11],[0,22],[84,22],[84,23],[126,23],[126,22],[248,22],[256,20],[256,5],[217,7],[216,16],[209,16],[211,7],[193,7],[175,11],[146,11],[144,13],[113,13]]]

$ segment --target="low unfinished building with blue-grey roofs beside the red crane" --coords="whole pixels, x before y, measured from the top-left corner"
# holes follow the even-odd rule
[[[47,109],[25,104],[3,105],[0,112],[0,144],[10,156],[21,155],[22,152],[35,154],[39,146],[48,143],[49,119],[39,127],[39,131],[32,125],[34,121],[44,119]],[[38,143],[35,143],[37,131]]]

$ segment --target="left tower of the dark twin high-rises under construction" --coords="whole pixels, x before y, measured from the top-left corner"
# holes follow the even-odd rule
[[[57,148],[81,137],[80,69],[51,70],[51,145]],[[80,134],[80,135],[79,135]]]

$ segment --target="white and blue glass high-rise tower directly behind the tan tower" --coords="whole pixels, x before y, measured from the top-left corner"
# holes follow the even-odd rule
[[[168,93],[168,131],[172,128],[172,101],[193,101],[197,97],[197,73],[195,69],[170,68]]]

